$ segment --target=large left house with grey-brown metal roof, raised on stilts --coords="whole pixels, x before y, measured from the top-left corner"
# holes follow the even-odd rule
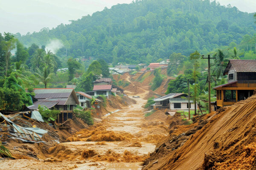
[[[29,106],[29,109],[38,109],[38,105],[46,106],[48,109],[57,109],[58,114],[56,122],[63,123],[67,119],[73,118],[73,108],[79,105],[76,93],[73,88],[35,88],[36,102]]]

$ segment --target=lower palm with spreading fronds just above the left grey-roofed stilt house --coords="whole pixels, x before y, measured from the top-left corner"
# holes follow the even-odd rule
[[[38,77],[38,80],[40,82],[44,83],[44,87],[47,88],[47,84],[50,82],[51,77],[54,75],[54,73],[52,73],[51,68],[45,66],[43,70],[37,68],[37,73],[35,73],[35,75]]]

